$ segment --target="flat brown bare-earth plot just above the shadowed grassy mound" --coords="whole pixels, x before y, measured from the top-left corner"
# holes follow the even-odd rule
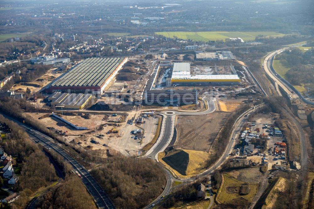
[[[175,148],[208,152],[228,116],[224,112],[179,116]]]

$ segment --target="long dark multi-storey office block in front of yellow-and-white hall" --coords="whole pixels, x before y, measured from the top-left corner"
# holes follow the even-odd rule
[[[146,90],[146,104],[197,104],[197,90]]]

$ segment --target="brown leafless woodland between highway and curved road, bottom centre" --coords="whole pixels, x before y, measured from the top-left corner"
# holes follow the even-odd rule
[[[109,157],[91,174],[118,208],[143,208],[166,184],[164,170],[143,158]]]

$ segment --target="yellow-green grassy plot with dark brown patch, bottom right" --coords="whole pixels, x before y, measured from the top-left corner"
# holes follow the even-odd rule
[[[252,201],[257,193],[258,183],[248,183],[235,179],[228,173],[222,175],[216,200],[223,204],[245,204]]]

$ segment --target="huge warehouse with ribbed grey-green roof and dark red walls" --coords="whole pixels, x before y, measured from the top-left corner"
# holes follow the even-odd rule
[[[127,57],[85,59],[64,73],[47,90],[101,94],[126,62]]]

